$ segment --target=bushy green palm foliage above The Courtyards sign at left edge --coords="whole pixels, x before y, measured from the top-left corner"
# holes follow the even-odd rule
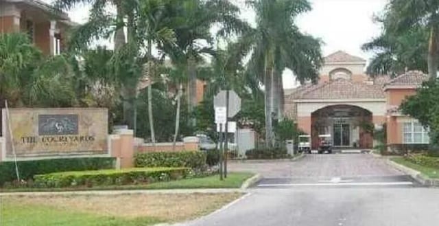
[[[64,56],[45,58],[26,34],[0,35],[0,106],[72,106],[73,71]]]

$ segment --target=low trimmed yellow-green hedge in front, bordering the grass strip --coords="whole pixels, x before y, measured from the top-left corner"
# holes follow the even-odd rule
[[[95,187],[102,185],[129,185],[182,179],[189,168],[130,168],[123,170],[95,170],[55,172],[35,175],[36,188]]]

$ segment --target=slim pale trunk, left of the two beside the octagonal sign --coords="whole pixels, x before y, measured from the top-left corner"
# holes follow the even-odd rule
[[[273,125],[272,125],[272,109],[273,109],[273,84],[272,64],[265,58],[264,85],[265,85],[265,146],[271,148],[273,146]]]

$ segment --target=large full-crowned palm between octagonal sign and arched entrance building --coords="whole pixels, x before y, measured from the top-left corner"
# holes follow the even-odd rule
[[[247,69],[265,86],[265,142],[274,145],[273,117],[283,117],[285,67],[300,82],[316,81],[322,63],[320,41],[301,34],[295,25],[298,14],[311,10],[307,0],[248,1],[257,15],[257,26],[246,32],[239,42],[240,54],[251,53]]]

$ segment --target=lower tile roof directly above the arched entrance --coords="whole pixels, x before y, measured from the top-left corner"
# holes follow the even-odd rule
[[[299,99],[381,99],[385,98],[380,85],[337,79],[313,85]]]

